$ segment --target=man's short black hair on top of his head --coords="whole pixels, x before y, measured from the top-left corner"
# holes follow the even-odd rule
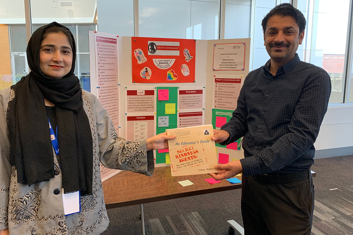
[[[299,26],[299,34],[303,32],[306,26],[306,20],[297,8],[293,7],[292,4],[289,3],[282,3],[277,6],[275,6],[267,15],[262,19],[261,25],[262,25],[262,31],[265,33],[266,31],[266,26],[267,26],[267,21],[271,16],[291,16],[297,21],[297,24]]]

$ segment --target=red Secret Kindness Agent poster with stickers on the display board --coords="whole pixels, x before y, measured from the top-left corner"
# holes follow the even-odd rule
[[[194,39],[131,37],[132,82],[195,81]]]

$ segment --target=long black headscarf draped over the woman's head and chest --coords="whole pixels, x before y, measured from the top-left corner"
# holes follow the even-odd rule
[[[15,96],[9,102],[7,112],[10,163],[16,166],[17,180],[21,184],[30,186],[54,177],[53,149],[44,105],[46,98],[55,104],[64,192],[81,191],[81,195],[90,195],[93,171],[92,135],[83,109],[82,89],[78,78],[73,74],[76,45],[72,33],[73,59],[70,72],[62,79],[55,79],[44,75],[40,69],[42,36],[52,26],[67,29],[53,22],[32,34],[27,46],[31,72],[11,87]]]

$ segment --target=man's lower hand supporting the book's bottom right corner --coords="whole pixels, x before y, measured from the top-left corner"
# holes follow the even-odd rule
[[[239,160],[216,165],[215,169],[218,170],[218,173],[209,173],[215,180],[229,179],[243,172],[243,167]]]

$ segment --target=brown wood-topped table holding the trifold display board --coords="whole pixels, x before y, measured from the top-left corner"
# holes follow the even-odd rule
[[[313,177],[315,176],[314,172]],[[241,188],[241,183],[231,184],[227,180],[211,185],[205,181],[208,178],[211,178],[208,174],[172,177],[169,166],[156,167],[153,177],[122,171],[102,183],[104,201],[107,209],[140,204],[142,234],[144,235],[144,203]],[[241,176],[237,178],[241,180]],[[194,185],[183,187],[178,183],[182,180],[190,180]],[[119,193],[116,193],[117,187]]]

